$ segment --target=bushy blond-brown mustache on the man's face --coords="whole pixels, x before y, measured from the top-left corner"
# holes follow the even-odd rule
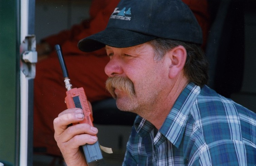
[[[134,84],[128,77],[109,77],[106,81],[106,89],[116,99],[115,89],[125,92],[130,98],[136,96]]]

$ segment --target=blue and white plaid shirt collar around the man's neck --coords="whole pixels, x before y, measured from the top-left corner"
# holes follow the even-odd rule
[[[159,129],[159,132],[177,148],[182,141],[190,108],[200,91],[199,86],[196,86],[194,83],[189,83],[175,101],[173,108]],[[135,119],[134,126],[140,137],[146,136],[155,128],[152,123],[140,116],[137,116]],[[163,141],[159,136],[160,133],[157,134],[158,138],[155,138],[155,140]]]

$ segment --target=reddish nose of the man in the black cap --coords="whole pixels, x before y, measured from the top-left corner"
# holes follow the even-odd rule
[[[118,58],[112,57],[109,60],[109,62],[105,66],[105,73],[109,77],[114,77],[114,76],[117,76],[117,75],[121,75],[123,73],[123,69],[120,65],[120,62],[119,62]]]

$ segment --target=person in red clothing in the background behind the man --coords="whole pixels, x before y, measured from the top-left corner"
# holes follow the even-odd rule
[[[206,0],[183,0],[193,11],[203,29],[203,48],[209,28]],[[111,97],[105,89],[108,78],[104,67],[109,61],[105,49],[86,53],[78,49],[78,42],[105,29],[108,19],[119,0],[93,0],[90,19],[74,25],[42,40],[37,45],[38,60],[34,80],[34,139],[36,151],[48,155],[61,156],[54,140],[53,120],[66,109],[64,98],[66,89],[62,70],[54,51],[54,45],[62,46],[63,55],[73,87],[83,87],[90,102]],[[92,63],[93,62],[93,63]],[[52,110],[59,110],[54,112]]]

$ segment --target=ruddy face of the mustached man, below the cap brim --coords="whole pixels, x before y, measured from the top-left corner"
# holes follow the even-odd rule
[[[120,110],[141,114],[161,100],[168,79],[168,58],[156,62],[149,43],[115,48],[106,46],[110,61],[105,67],[109,76],[107,89],[116,98]]]

